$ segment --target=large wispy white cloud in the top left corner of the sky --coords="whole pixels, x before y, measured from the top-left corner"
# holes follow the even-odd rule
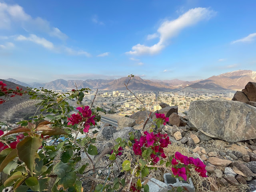
[[[47,20],[40,17],[32,18],[29,14],[26,14],[21,6],[0,2],[0,29],[9,29],[12,25],[20,25],[20,27],[28,32],[45,32],[52,37],[62,40],[68,38],[58,28],[50,26]]]

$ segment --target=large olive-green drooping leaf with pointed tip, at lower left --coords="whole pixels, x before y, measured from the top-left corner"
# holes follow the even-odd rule
[[[26,164],[31,176],[33,176],[35,154],[41,146],[42,143],[40,141],[40,135],[35,135],[34,137],[25,137],[16,146],[18,157]]]

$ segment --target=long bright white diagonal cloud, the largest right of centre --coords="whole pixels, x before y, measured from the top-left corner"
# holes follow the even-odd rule
[[[126,52],[127,54],[142,55],[142,54],[157,54],[164,49],[170,38],[178,35],[181,30],[188,26],[197,24],[202,20],[211,18],[215,14],[214,11],[209,8],[194,8],[188,10],[175,20],[166,20],[162,22],[157,30],[159,35],[159,42],[153,46],[145,46],[137,44],[132,47],[132,50]]]

